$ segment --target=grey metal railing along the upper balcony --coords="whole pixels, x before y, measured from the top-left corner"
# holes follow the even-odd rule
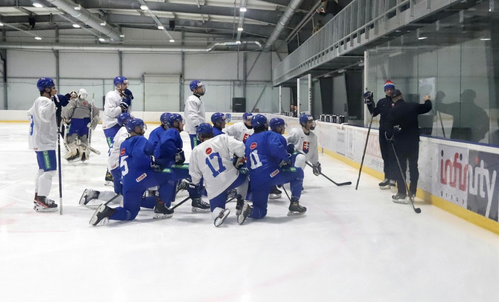
[[[272,84],[300,76],[386,32],[459,1],[353,0],[272,70]],[[392,18],[395,25],[388,26]]]

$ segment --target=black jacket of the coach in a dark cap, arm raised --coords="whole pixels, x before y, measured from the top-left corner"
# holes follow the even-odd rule
[[[429,112],[432,102],[428,99],[423,104],[398,100],[388,114],[386,136],[395,135],[397,145],[407,146],[419,141],[418,115]],[[400,131],[394,133],[393,126],[399,125]]]

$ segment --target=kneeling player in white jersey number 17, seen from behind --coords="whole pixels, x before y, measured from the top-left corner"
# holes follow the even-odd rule
[[[196,133],[201,143],[192,150],[190,186],[199,191],[201,179],[204,179],[214,224],[219,226],[231,211],[225,208],[228,190],[238,188],[240,203],[248,192],[247,170],[238,169],[244,164],[245,144],[229,135],[214,136],[209,123],[201,123]]]

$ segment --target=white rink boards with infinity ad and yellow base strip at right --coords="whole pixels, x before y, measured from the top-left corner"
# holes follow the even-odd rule
[[[286,128],[299,126],[296,117],[265,115],[283,118]],[[360,166],[367,128],[317,121],[314,132],[319,150]],[[379,132],[371,129],[362,170],[382,179],[383,166]],[[421,136],[418,166],[418,197],[499,233],[498,148]]]

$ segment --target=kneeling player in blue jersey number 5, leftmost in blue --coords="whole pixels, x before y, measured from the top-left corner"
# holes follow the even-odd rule
[[[146,129],[144,121],[132,118],[126,123],[130,137],[121,143],[120,167],[121,182],[123,183],[123,206],[111,208],[101,204],[95,211],[90,224],[107,224],[109,220],[133,220],[141,207],[154,208],[154,218],[171,217],[173,210],[162,201],[170,192],[169,186],[174,185],[169,169],[158,170],[151,156],[146,154],[147,138],[144,137]],[[159,186],[159,198],[148,196],[143,198],[144,192],[153,186]]]

